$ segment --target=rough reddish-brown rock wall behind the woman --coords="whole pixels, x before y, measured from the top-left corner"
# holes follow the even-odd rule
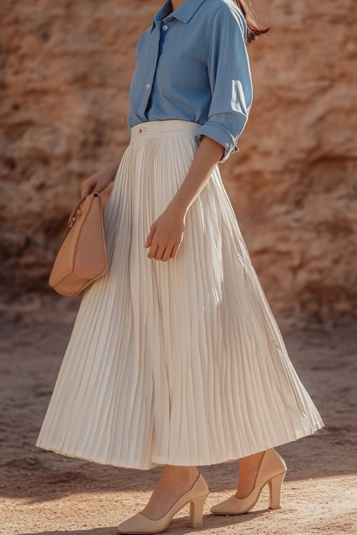
[[[161,3],[2,1],[0,312],[76,307],[49,272],[81,180],[129,143],[136,41]],[[248,46],[251,116],[220,167],[273,312],[292,322],[357,315],[354,4],[256,2],[271,31]]]

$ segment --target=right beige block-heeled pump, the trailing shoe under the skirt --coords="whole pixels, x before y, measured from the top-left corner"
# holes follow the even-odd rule
[[[286,463],[274,448],[264,452],[256,474],[251,494],[237,498],[234,494],[210,509],[214,514],[242,514],[252,509],[258,501],[261,489],[269,484],[269,509],[281,509],[281,486],[286,474]]]

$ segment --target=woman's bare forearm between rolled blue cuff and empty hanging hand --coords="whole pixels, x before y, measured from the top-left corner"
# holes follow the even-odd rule
[[[186,215],[188,208],[206,185],[213,169],[222,158],[223,152],[224,148],[220,143],[203,136],[183,183],[169,203],[169,210],[173,208]]]

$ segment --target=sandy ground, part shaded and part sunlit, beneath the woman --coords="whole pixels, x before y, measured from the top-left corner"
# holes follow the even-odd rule
[[[35,447],[70,334],[70,324],[1,327],[1,534],[115,534],[121,521],[144,507],[161,472],[104,466]],[[187,505],[167,533],[357,533],[356,327],[308,327],[283,336],[326,424],[277,448],[288,466],[283,509],[266,509],[266,487],[248,514],[209,513],[235,491],[238,462],[204,466],[211,494],[203,528],[186,526]]]

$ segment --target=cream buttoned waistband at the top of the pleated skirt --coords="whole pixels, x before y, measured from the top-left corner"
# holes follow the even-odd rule
[[[164,121],[146,121],[132,126],[130,129],[130,143],[143,138],[161,138],[173,136],[191,137],[201,126],[193,121],[182,119],[165,119]]]

